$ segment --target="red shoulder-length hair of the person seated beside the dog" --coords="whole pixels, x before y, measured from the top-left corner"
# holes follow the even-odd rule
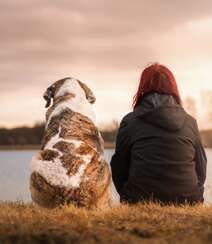
[[[145,94],[152,92],[172,95],[176,102],[181,104],[174,75],[166,66],[158,63],[150,65],[142,72],[138,91],[133,99],[133,107],[135,108],[141,103]]]

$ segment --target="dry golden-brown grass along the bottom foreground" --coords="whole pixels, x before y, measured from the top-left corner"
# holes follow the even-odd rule
[[[107,211],[0,203],[0,243],[212,243],[212,207],[121,205]]]

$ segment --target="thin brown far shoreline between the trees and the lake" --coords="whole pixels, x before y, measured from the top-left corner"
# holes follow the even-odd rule
[[[39,150],[40,145],[0,145],[0,151],[27,151],[27,150]],[[105,149],[115,149],[115,143],[105,142]]]

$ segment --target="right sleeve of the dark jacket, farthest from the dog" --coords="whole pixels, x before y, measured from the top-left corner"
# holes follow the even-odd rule
[[[196,124],[197,129],[197,138],[195,144],[195,162],[196,162],[196,172],[199,180],[199,184],[201,186],[204,185],[206,179],[206,168],[207,168],[207,157],[205,154],[204,147],[201,142],[198,126]]]

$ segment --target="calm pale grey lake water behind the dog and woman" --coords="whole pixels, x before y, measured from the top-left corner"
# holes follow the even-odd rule
[[[105,151],[105,159],[110,161],[114,150]],[[30,202],[29,164],[31,151],[0,151],[0,201],[22,200]],[[212,149],[206,149],[208,157],[207,179],[205,184],[205,201],[212,203]]]

